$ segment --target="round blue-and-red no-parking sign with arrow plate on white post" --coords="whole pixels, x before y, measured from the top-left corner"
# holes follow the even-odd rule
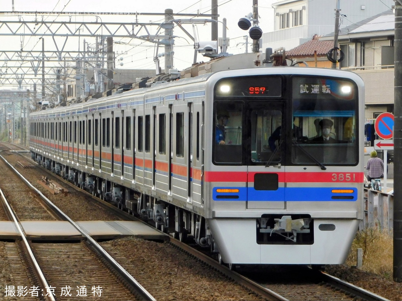
[[[387,192],[387,150],[394,149],[394,114],[385,112],[378,115],[374,122],[375,133],[386,140],[374,140],[374,149],[382,149],[384,153],[384,192]]]

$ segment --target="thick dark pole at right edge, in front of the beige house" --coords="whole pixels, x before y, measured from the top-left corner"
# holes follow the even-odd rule
[[[394,182],[402,180],[402,0],[395,0]],[[386,162],[385,162],[386,163]],[[402,282],[402,186],[394,185],[394,281]]]

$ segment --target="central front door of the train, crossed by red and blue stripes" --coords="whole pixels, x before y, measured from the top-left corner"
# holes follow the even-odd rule
[[[251,137],[247,166],[247,208],[285,208],[285,143],[281,102],[250,102],[246,112]]]

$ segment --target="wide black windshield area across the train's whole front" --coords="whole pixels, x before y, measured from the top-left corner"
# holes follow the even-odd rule
[[[290,79],[292,89],[285,97],[275,91],[273,97],[215,100],[214,164],[357,164],[355,84],[332,78]]]

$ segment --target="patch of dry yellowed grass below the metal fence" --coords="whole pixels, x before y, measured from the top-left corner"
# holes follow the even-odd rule
[[[356,265],[357,248],[362,248],[363,266],[361,269],[392,280],[393,245],[392,234],[380,232],[376,228],[365,228],[357,232],[346,264]]]

